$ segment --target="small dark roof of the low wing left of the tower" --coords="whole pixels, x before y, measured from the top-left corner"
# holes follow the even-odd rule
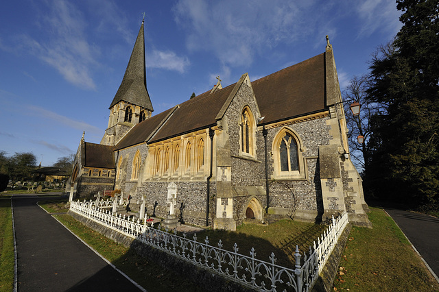
[[[84,142],[84,167],[115,168],[112,146]]]

